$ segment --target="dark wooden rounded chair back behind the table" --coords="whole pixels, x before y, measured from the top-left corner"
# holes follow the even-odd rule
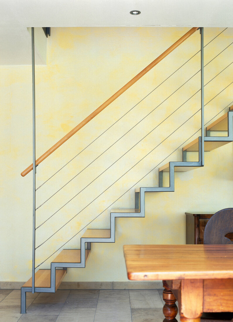
[[[215,213],[206,224],[204,244],[233,244],[232,237],[233,208],[222,209]]]

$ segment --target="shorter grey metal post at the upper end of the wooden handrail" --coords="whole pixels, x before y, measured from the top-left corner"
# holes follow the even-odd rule
[[[204,166],[204,32],[200,27],[201,34],[201,165]]]

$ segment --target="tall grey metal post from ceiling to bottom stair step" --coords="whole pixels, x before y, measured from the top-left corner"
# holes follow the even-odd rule
[[[35,291],[35,49],[34,27],[32,27],[32,116],[33,116],[33,239],[32,239],[32,293]]]

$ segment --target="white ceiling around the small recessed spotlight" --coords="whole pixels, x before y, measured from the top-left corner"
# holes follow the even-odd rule
[[[30,63],[27,27],[233,27],[232,14],[232,0],[0,0],[0,64]]]

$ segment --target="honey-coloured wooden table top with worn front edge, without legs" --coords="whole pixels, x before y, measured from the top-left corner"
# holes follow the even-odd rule
[[[124,245],[128,279],[233,279],[232,245]]]

